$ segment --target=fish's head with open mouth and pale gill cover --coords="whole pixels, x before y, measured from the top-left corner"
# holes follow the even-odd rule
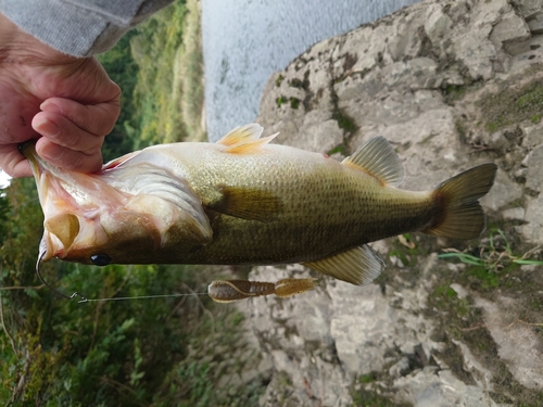
[[[21,151],[45,216],[40,262],[174,263],[172,256],[211,241],[209,219],[188,183],[160,166],[132,161],[139,152],[83,174],[46,162],[33,142]]]

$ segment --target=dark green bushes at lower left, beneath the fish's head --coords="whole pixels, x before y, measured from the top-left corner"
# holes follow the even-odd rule
[[[241,371],[242,317],[206,295],[78,303],[35,272],[42,222],[31,179],[0,196],[0,404],[13,406],[214,406],[262,394],[260,379],[217,390]],[[7,220],[9,219],[9,220]],[[52,260],[46,280],[88,298],[206,291],[217,268],[108,266]],[[232,359],[232,360],[230,360]],[[225,363],[227,360],[227,363]]]

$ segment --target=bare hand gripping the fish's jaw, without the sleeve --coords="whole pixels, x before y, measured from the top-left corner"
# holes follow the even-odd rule
[[[93,173],[119,114],[121,89],[94,58],[59,52],[0,14],[0,168],[30,176],[17,145],[59,167]],[[41,137],[42,136],[42,137]]]

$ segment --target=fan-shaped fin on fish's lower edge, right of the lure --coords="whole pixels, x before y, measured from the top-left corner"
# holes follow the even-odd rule
[[[303,265],[355,285],[370,283],[384,268],[381,256],[367,244]]]

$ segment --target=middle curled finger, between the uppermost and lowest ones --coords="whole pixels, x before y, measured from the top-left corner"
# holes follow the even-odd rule
[[[34,116],[31,125],[53,143],[74,151],[92,154],[103,143],[102,136],[90,133],[56,113],[40,112]]]

